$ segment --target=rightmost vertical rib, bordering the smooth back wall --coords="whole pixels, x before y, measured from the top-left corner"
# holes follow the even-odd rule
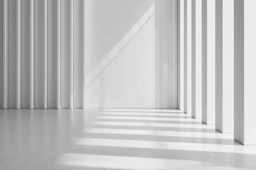
[[[86,30],[86,4],[87,4],[87,0],[83,1],[83,108],[86,108],[86,46],[87,46],[87,42],[86,42],[86,34],[87,34],[87,30]]]

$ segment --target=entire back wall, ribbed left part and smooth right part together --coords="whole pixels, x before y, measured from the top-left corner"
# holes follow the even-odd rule
[[[0,6],[0,108],[177,107],[176,0]]]

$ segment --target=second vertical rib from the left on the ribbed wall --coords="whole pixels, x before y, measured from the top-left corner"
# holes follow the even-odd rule
[[[17,0],[17,50],[16,50],[16,57],[17,57],[17,69],[16,69],[16,77],[17,77],[17,84],[16,84],[16,108],[21,108],[21,0]]]

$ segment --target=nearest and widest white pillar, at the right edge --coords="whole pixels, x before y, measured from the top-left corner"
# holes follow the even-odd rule
[[[256,1],[235,0],[235,140],[256,145]]]

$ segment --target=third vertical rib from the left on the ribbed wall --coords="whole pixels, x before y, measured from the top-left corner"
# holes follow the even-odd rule
[[[34,108],[35,0],[30,0],[30,108]]]

